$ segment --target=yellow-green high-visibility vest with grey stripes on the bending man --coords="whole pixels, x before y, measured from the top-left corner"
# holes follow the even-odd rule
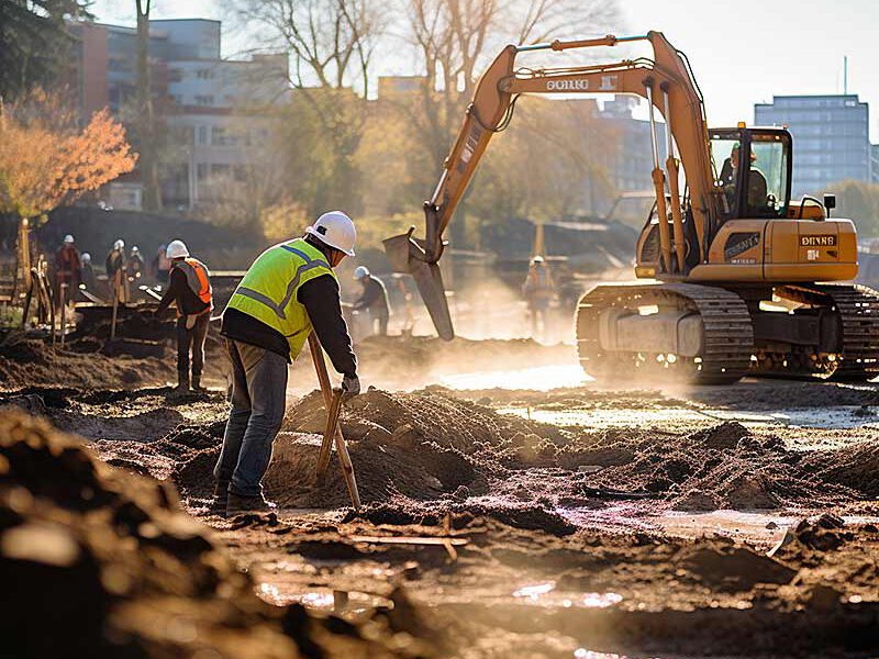
[[[246,313],[287,338],[296,358],[311,333],[311,320],[299,302],[299,289],[335,272],[323,253],[302,238],[269,247],[257,257],[229,301],[230,309]]]

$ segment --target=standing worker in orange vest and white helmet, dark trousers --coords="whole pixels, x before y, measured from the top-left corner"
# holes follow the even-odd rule
[[[182,241],[168,244],[171,259],[170,283],[156,315],[160,315],[171,302],[177,305],[177,388],[175,392],[189,391],[189,353],[192,351],[192,389],[204,391],[201,372],[204,369],[204,339],[213,310],[211,273],[199,259],[192,258]]]

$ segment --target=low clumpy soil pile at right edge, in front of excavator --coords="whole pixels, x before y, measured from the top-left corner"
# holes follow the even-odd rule
[[[802,454],[736,422],[687,436],[609,431],[587,449],[580,442],[567,447],[561,462],[603,467],[586,477],[590,485],[643,492],[691,511],[835,505],[879,490],[879,446]]]

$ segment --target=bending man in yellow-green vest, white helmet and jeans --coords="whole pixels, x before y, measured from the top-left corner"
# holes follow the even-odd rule
[[[360,392],[333,271],[345,256],[354,256],[356,235],[345,213],[324,213],[304,237],[259,255],[232,294],[222,328],[232,361],[232,411],[214,469],[214,512],[274,507],[263,495],[263,477],[283,421],[287,366],[312,328],[343,375],[345,396]]]

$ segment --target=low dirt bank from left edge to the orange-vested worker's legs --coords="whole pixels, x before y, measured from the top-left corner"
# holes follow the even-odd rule
[[[0,345],[0,387],[119,388],[165,382],[175,377],[171,360],[108,357],[51,346],[42,340]]]

